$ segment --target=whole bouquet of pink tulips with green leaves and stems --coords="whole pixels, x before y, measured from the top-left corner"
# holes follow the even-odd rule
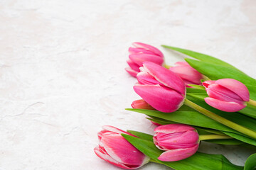
[[[158,126],[154,136],[104,126],[95,154],[123,169],[148,162],[178,170],[254,169],[256,154],[236,166],[223,155],[197,150],[202,140],[256,146],[256,80],[215,57],[163,47],[186,55],[186,62],[168,66],[156,47],[134,42],[126,68],[141,97],[127,110],[147,115]]]

